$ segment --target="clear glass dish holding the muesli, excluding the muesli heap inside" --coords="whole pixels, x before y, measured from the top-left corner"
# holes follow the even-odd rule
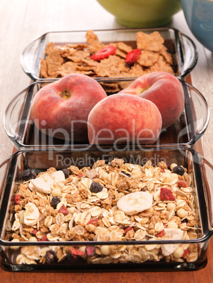
[[[118,159],[114,158],[123,159],[124,164],[132,163],[142,166],[147,164],[147,161],[152,161],[153,166],[158,166],[159,163],[162,162],[166,163],[168,166],[172,163],[183,165],[188,172],[188,176],[190,176],[191,184],[190,187],[183,187],[181,190],[191,189],[190,196],[192,196],[193,199],[190,197],[190,200],[193,206],[190,206],[190,209],[193,209],[194,213],[196,213],[197,222],[194,226],[192,225],[193,228],[190,228],[187,226],[190,218],[187,220],[182,218],[179,224],[183,225],[185,229],[187,228],[186,230],[189,229],[188,232],[192,233],[191,235],[193,237],[183,237],[184,239],[178,240],[151,238],[149,240],[124,239],[123,241],[105,241],[103,239],[101,241],[47,241],[47,239],[45,241],[28,241],[25,238],[25,241],[15,242],[5,239],[6,231],[11,230],[8,221],[12,221],[11,214],[13,213],[11,211],[14,211],[14,206],[10,213],[8,210],[11,207],[11,203],[14,201],[14,194],[16,194],[21,183],[20,175],[23,170],[32,170],[37,174],[51,167],[56,168],[56,170],[68,168],[71,165],[78,166],[78,168],[88,168],[89,166],[92,168],[92,165],[97,161],[100,162],[100,160],[104,160],[106,163],[110,164],[112,164],[114,160],[118,161]],[[21,272],[33,270],[79,270],[81,272],[91,270],[183,271],[204,268],[207,264],[207,247],[209,239],[212,237],[213,229],[212,170],[212,165],[209,164],[205,158],[200,156],[197,151],[185,147],[179,149],[152,149],[147,147],[143,150],[136,149],[122,152],[109,151],[107,149],[105,149],[105,151],[99,151],[98,149],[90,151],[82,149],[75,149],[73,151],[17,151],[13,153],[8,160],[2,163],[0,167],[1,267],[4,268],[4,270]],[[41,195],[39,194],[39,196]],[[186,194],[182,196],[184,199]],[[178,200],[183,201],[183,199],[179,197]],[[152,204],[152,206],[154,205],[156,205],[156,203]],[[47,215],[45,215],[45,217],[47,217]],[[102,216],[98,217],[102,218]],[[147,218],[148,217],[149,216],[147,216]],[[168,222],[166,223],[166,225],[168,225]],[[190,224],[188,223],[188,225]],[[15,227],[14,224],[13,227]],[[46,227],[48,227],[48,225]],[[121,227],[122,226],[120,226],[120,228]],[[184,227],[180,229],[184,229]],[[16,233],[17,229],[13,229],[13,231]],[[36,237],[39,239],[37,234]],[[168,247],[168,244],[181,245],[184,250],[188,250],[188,254],[185,253],[185,256],[182,256],[182,258],[159,256],[159,254],[162,253],[162,245]],[[104,246],[104,248],[102,248],[102,246]],[[109,246],[110,249],[113,250],[110,256],[109,253],[107,255],[107,253],[103,251],[103,249],[107,249],[106,247],[109,248]],[[90,249],[93,249],[95,253],[87,255],[85,249],[88,247],[92,247]],[[58,260],[51,261],[51,258],[49,258],[49,262],[47,260],[42,261],[42,255],[44,257],[45,252],[49,252],[48,255],[51,256],[54,254],[53,251],[57,253]],[[72,251],[72,256],[69,251]],[[73,251],[78,251],[78,253],[73,253]],[[81,252],[79,253],[79,251]],[[116,255],[114,254],[115,251]],[[133,254],[132,251],[134,251]],[[139,255],[137,251],[139,251]],[[129,257],[123,258],[123,253]]]

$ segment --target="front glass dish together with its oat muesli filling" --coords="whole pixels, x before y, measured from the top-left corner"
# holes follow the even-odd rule
[[[176,165],[178,171],[174,169]],[[185,168],[184,174],[180,166],[183,166],[181,170]],[[63,181],[62,185],[58,180],[51,185],[54,186],[51,194],[47,194],[35,190],[30,185],[32,180],[23,177],[26,177],[23,170],[35,175],[48,168],[51,168],[49,174],[69,168],[69,179],[66,179],[69,183]],[[204,268],[213,229],[212,170],[205,158],[185,147],[122,152],[97,149],[17,151],[0,167],[1,267],[21,272]],[[106,178],[107,172],[109,177]],[[118,179],[116,174],[120,174]],[[140,189],[136,191],[140,194],[152,194],[152,207],[142,212],[137,210],[132,215],[126,212],[122,218],[123,208],[117,209],[118,199],[134,194],[135,187],[120,186],[121,179],[126,184],[129,180],[138,182],[136,187]],[[97,191],[91,193],[91,182],[100,184],[101,180],[102,196]],[[183,182],[187,182],[188,187]],[[53,208],[50,206],[54,203],[49,204],[56,185],[63,189],[59,200],[63,199],[62,210],[61,206]],[[76,193],[75,186],[79,185],[78,192],[84,200],[80,201],[76,194],[73,200],[66,198],[68,194],[71,198],[72,191]],[[162,186],[172,190],[173,199],[165,200],[162,196],[159,199]],[[90,201],[85,201],[87,197]],[[92,197],[99,200],[91,202]],[[32,210],[27,206],[32,206]],[[39,208],[38,215],[33,214],[35,207]],[[54,225],[57,226],[55,230]],[[76,229],[77,234],[73,238],[66,234],[66,239],[63,229],[67,233]],[[181,236],[164,237],[168,231],[174,234],[174,230],[181,231]]]

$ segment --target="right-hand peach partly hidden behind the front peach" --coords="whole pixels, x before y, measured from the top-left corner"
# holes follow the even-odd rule
[[[162,128],[173,125],[180,118],[185,103],[181,82],[165,72],[142,75],[118,93],[152,101],[162,114]]]

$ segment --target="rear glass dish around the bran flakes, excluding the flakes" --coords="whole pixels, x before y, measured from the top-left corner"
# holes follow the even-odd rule
[[[141,30],[141,29],[140,29]],[[124,42],[133,48],[135,46],[135,33],[139,29],[122,30],[94,30],[100,42],[109,44],[110,42]],[[197,63],[197,49],[194,42],[182,32],[174,28],[156,28],[141,30],[147,34],[158,31],[164,39],[164,45],[174,59],[172,68],[176,76],[185,78]],[[65,31],[47,32],[34,39],[25,47],[20,57],[20,63],[24,72],[32,80],[48,80],[40,74],[40,61],[45,58],[47,44],[78,44],[85,43],[87,31]],[[98,79],[98,78],[97,78]],[[57,79],[56,79],[57,80]]]

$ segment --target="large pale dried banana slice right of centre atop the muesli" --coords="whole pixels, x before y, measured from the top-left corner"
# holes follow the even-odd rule
[[[136,191],[118,200],[117,206],[128,215],[139,213],[152,207],[152,194],[149,191]]]

